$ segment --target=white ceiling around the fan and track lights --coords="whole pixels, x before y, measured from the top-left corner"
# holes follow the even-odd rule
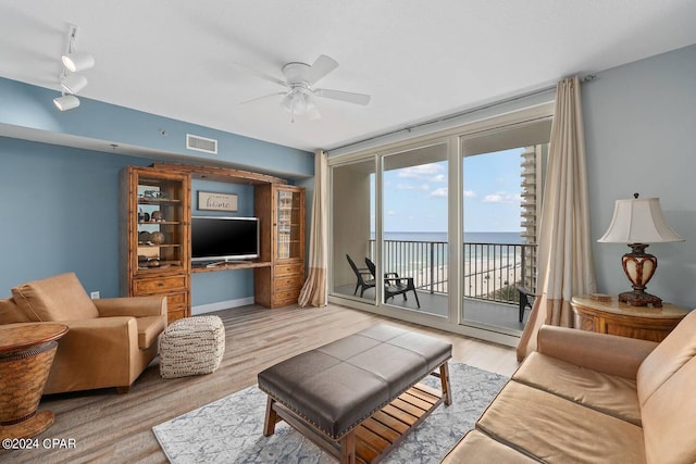
[[[695,43],[696,2],[0,0],[0,76],[58,90],[70,23],[97,61],[82,96],[311,151]],[[322,53],[340,66],[318,87],[370,105],[239,104],[283,88],[232,63],[281,77]]]

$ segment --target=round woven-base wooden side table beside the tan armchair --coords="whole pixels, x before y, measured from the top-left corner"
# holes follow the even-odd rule
[[[0,438],[29,438],[53,424],[51,411],[36,412],[55,356],[63,324],[0,326]]]

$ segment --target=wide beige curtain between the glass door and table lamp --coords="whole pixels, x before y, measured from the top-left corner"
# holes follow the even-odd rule
[[[585,134],[577,77],[558,83],[538,236],[537,297],[518,344],[536,349],[542,324],[573,327],[570,300],[596,289],[589,236]]]

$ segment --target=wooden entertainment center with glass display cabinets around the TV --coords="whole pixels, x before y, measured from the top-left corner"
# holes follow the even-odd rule
[[[191,179],[253,186],[260,253],[253,261],[191,266]],[[297,302],[304,284],[304,189],[279,177],[179,163],[121,173],[121,294],[166,294],[169,322],[191,315],[191,273],[253,268],[254,301]]]

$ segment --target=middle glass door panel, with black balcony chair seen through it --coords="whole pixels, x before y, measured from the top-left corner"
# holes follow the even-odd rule
[[[382,158],[384,303],[448,316],[447,145]]]

